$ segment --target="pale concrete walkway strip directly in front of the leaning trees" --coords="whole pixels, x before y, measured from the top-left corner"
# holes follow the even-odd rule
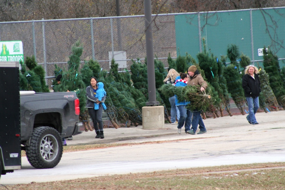
[[[225,116],[219,118],[207,118],[204,124],[207,133],[196,135],[186,134],[182,127],[182,133],[177,133],[177,124],[164,124],[162,129],[144,130],[143,126],[131,126],[120,128],[104,128],[104,139],[95,139],[95,131],[83,132],[73,136],[73,140],[67,140],[67,145],[75,144],[105,144],[105,143],[128,143],[128,142],[153,142],[165,140],[212,138],[221,135],[238,135],[248,133],[257,129],[269,129],[273,127],[284,128],[285,132],[285,111],[257,113],[256,118],[259,124],[251,125],[246,120],[246,115]]]

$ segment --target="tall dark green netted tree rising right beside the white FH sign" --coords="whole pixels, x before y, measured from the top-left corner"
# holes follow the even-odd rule
[[[283,85],[283,80],[281,78],[280,67],[278,62],[278,57],[272,53],[268,47],[268,51],[263,49],[263,66],[266,73],[269,75],[270,87],[277,99],[280,106],[285,108],[285,89]]]

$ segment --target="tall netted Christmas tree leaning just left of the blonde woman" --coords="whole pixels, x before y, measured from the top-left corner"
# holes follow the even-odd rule
[[[231,60],[231,64],[225,68],[224,76],[227,81],[227,89],[242,115],[245,115],[245,96],[242,87],[242,74],[239,71],[237,58],[239,57],[239,49],[236,45],[231,44],[227,49],[227,56]]]

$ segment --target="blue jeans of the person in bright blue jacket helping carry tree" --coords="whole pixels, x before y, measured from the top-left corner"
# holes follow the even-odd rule
[[[184,105],[179,105],[176,107],[178,107],[180,113],[180,118],[178,120],[177,128],[181,129],[185,123],[184,125],[185,132],[187,132],[188,130],[190,130],[192,111],[186,109]]]

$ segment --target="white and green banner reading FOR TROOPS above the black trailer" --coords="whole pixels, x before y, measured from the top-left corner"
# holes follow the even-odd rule
[[[0,62],[24,62],[22,41],[0,41]]]

